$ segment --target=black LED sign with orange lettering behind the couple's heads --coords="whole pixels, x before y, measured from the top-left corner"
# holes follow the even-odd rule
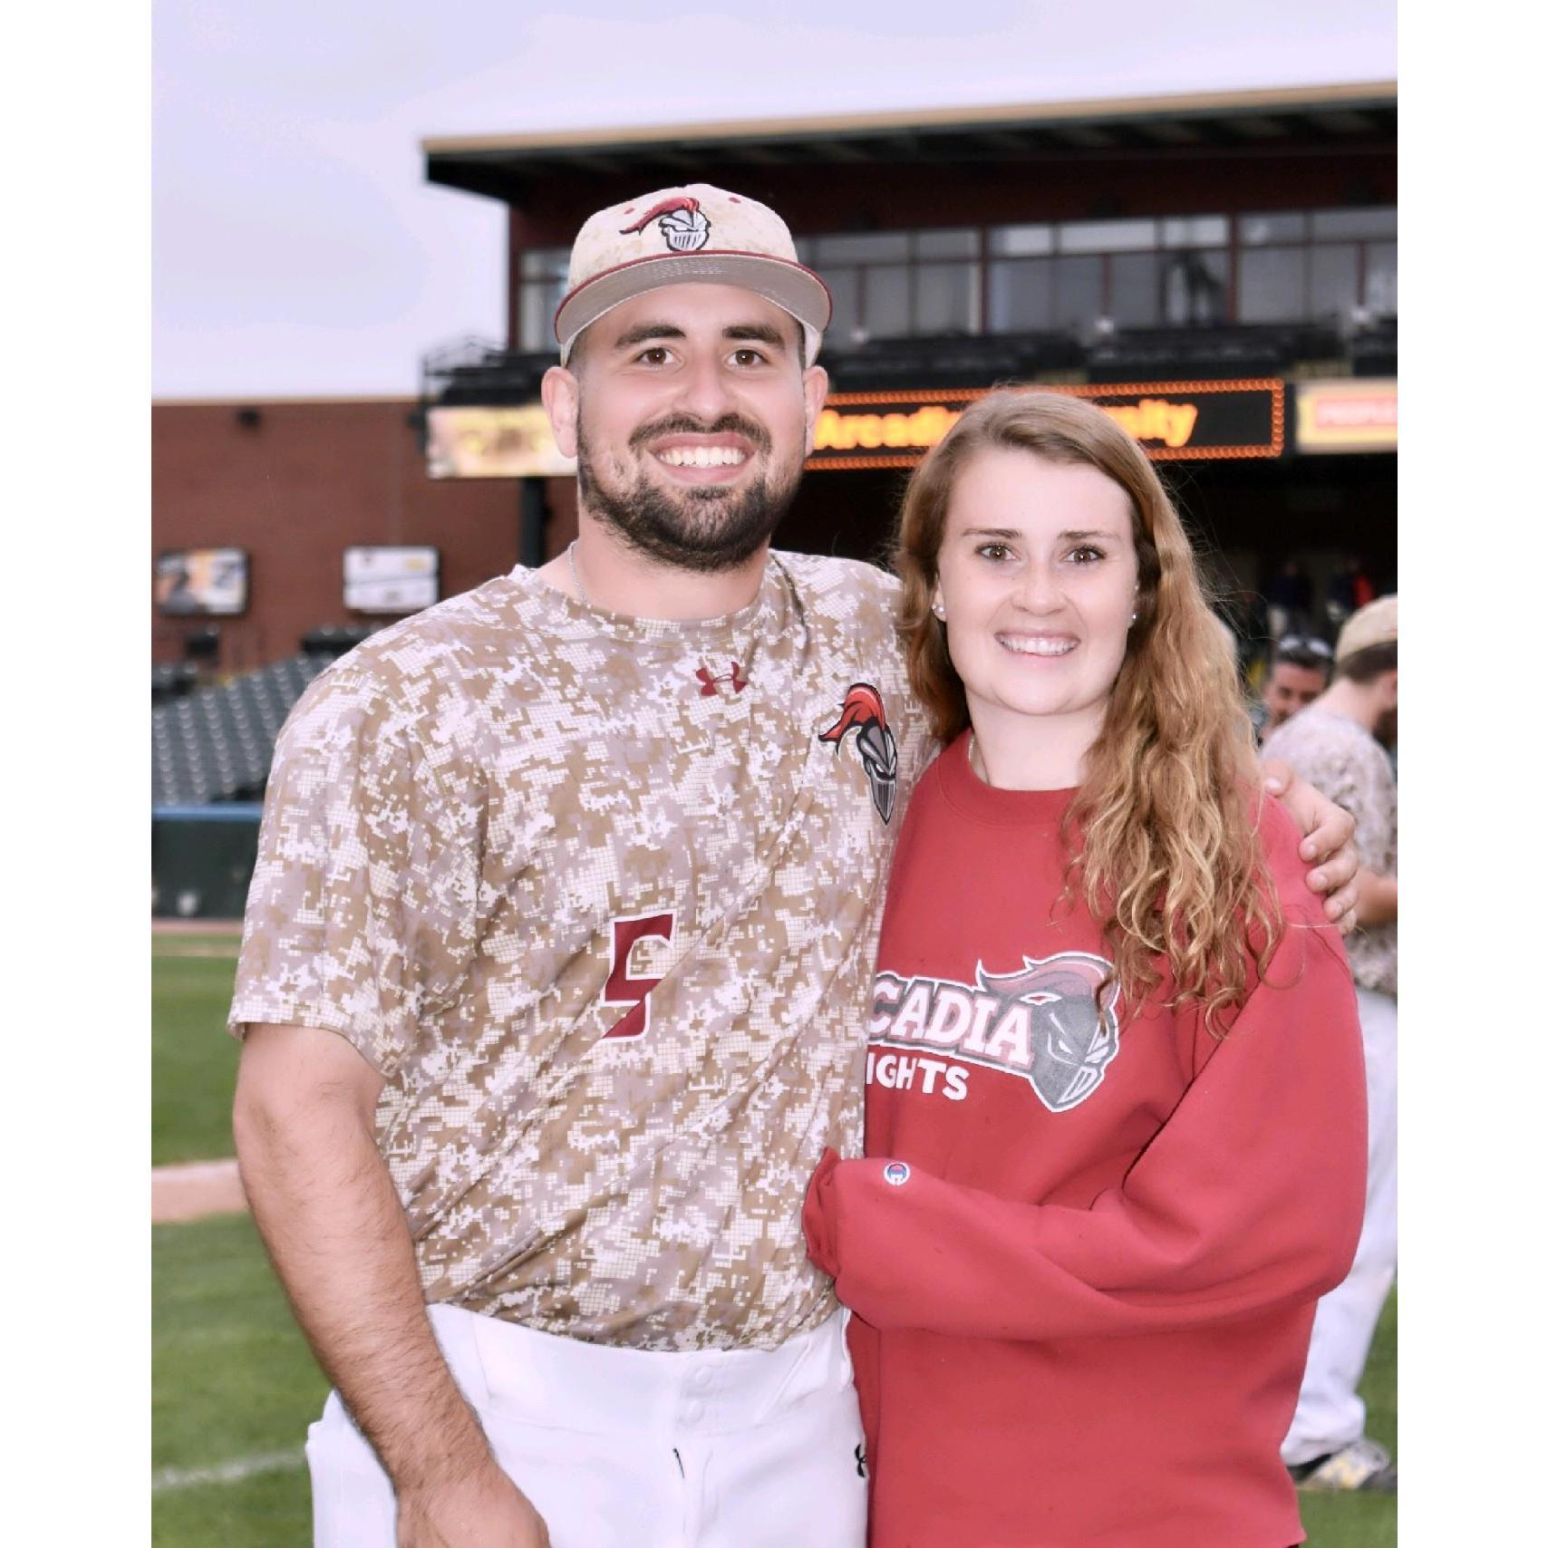
[[[830,393],[808,467],[915,467],[992,389]],[[1050,385],[1111,415],[1155,461],[1280,457],[1285,384],[1274,379]]]

